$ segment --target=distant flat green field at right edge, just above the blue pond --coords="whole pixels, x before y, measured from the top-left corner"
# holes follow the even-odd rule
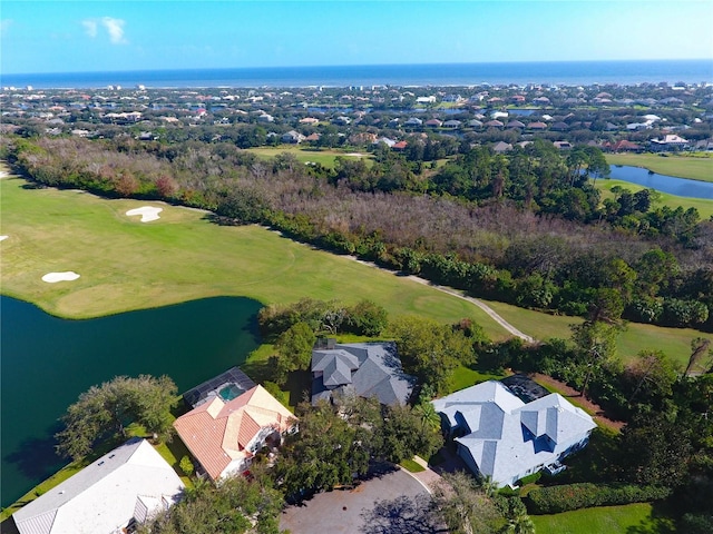
[[[644,167],[660,175],[677,176],[692,180],[713,181],[713,157],[706,152],[700,156],[670,154],[607,154],[609,165]]]

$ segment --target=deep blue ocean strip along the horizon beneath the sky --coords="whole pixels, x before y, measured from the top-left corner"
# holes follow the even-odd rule
[[[37,89],[202,87],[476,86],[713,82],[711,60],[373,65],[0,75],[0,87]]]

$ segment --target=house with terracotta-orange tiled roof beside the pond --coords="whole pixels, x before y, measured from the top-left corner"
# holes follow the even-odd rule
[[[174,428],[213,482],[245,472],[261,448],[279,445],[295,425],[292,413],[257,385],[224,400],[211,397],[174,422]]]

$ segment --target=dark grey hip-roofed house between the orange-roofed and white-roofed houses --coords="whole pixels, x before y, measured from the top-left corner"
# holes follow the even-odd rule
[[[394,343],[336,344],[321,340],[312,350],[312,404],[334,394],[377,397],[404,405],[416,384],[403,373]]]

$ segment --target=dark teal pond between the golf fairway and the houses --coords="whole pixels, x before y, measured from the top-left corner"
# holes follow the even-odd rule
[[[2,506],[67,462],[58,418],[81,392],[117,375],[168,375],[179,392],[240,365],[260,344],[261,304],[209,298],[90,320],[65,320],[0,297]]]

